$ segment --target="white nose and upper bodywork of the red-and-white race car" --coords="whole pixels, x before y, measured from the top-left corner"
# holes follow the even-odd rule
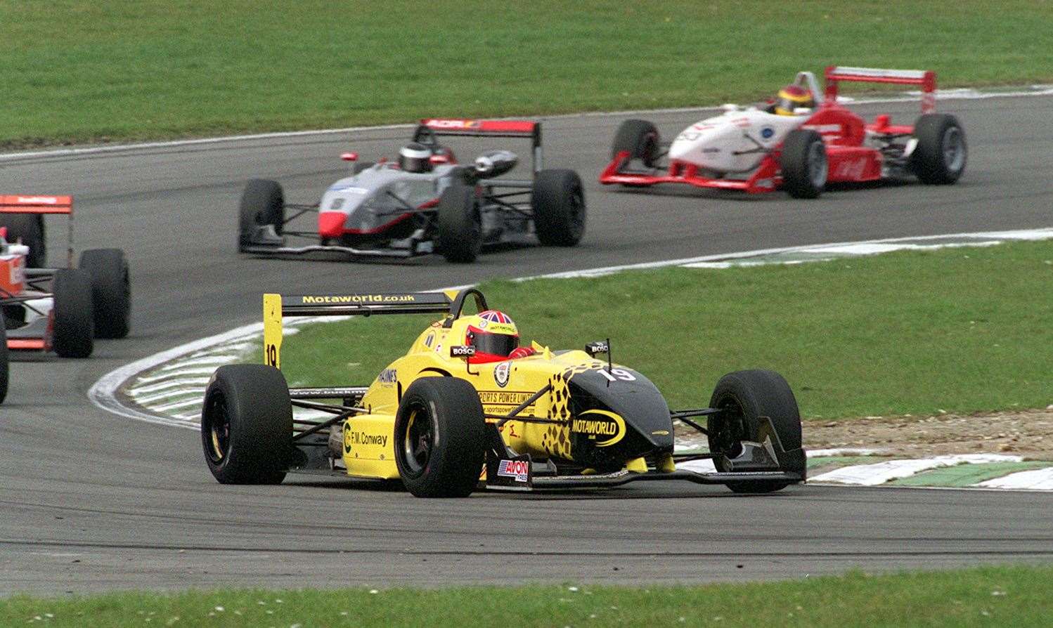
[[[815,75],[797,73],[795,84],[821,96]],[[669,147],[669,158],[695,164],[718,174],[749,173],[760,165],[768,153],[799,128],[812,109],[798,109],[794,116],[778,116],[758,109],[724,105],[720,116],[707,118],[680,131]]]

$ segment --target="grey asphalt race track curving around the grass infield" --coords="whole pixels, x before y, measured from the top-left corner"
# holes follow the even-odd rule
[[[916,107],[860,110],[912,120]],[[310,202],[345,171],[341,151],[354,148],[363,159],[391,154],[405,129],[356,133],[354,141],[344,133],[0,162],[5,194],[76,195],[77,248],[124,248],[135,300],[132,336],[99,342],[90,360],[14,359],[0,407],[0,593],[702,582],[1053,560],[1053,499],[1029,492],[799,486],[738,497],[719,486],[644,483],[425,501],[307,475],[272,487],[221,486],[202,461],[196,432],[118,418],[85,397],[118,366],[257,321],[266,290],[412,290],[747,249],[1053,224],[1053,98],[948,101],[940,108],[957,114],[969,135],[972,153],[959,185],[866,187],[816,201],[603,188],[595,177],[623,117],[548,120],[548,164],[585,179],[584,241],[570,249],[498,251],[466,266],[235,252],[246,178],[278,179],[289,200]],[[700,117],[652,119],[670,136]],[[462,149],[462,158],[471,155]],[[64,246],[61,219],[48,228],[56,262]],[[699,383],[700,400],[711,386]]]

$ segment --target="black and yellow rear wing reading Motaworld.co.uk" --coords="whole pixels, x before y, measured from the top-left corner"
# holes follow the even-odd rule
[[[281,368],[283,316],[443,315],[451,312],[455,302],[444,292],[263,295],[263,363]]]

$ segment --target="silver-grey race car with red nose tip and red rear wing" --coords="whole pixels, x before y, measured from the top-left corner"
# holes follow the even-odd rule
[[[529,179],[502,178],[518,162],[509,150],[486,150],[461,165],[443,136],[519,138],[531,142]],[[531,243],[574,246],[585,228],[585,196],[574,170],[541,168],[541,124],[517,120],[421,120],[413,134],[415,166],[353,161],[352,176],[331,185],[317,204],[285,203],[281,186],[250,180],[241,197],[238,250],[254,255],[326,251],[355,257],[437,252],[473,262],[483,246]],[[292,212],[290,215],[289,212]],[[317,212],[314,230],[293,220]],[[287,240],[313,240],[291,246]]]

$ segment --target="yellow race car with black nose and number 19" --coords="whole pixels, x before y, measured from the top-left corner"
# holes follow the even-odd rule
[[[470,300],[477,313],[465,313]],[[369,386],[289,387],[279,370],[283,316],[389,313],[443,317]],[[729,373],[710,407],[671,411],[645,377],[611,362],[610,341],[584,350],[519,346],[512,319],[475,288],[264,295],[263,327],[265,364],[221,366],[205,390],[204,458],[224,484],[321,472],[399,479],[417,497],[440,498],[638,480],[770,492],[804,481],[797,403],[773,371]],[[294,406],[332,418],[294,419]],[[706,433],[710,452],[675,452],[674,421]],[[702,459],[715,470],[678,468]]]

